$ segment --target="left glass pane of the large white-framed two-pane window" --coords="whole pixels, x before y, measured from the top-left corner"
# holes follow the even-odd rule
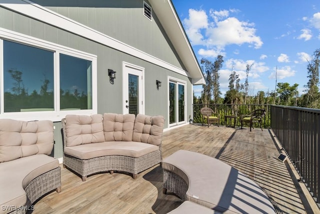
[[[53,52],[4,40],[3,111],[53,111],[53,72]]]

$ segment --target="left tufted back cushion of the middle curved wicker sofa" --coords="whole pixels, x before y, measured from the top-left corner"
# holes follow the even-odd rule
[[[66,146],[103,142],[102,115],[66,115],[65,134]]]

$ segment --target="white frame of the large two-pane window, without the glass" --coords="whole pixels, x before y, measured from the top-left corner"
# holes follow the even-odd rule
[[[32,111],[32,112],[4,112],[4,88],[3,88],[3,40],[27,45],[53,52],[53,91],[54,110],[53,111]],[[92,109],[85,110],[62,110],[60,111],[60,71],[59,54],[91,61],[91,90]],[[79,50],[54,44],[45,40],[26,36],[9,30],[0,29],[0,119],[10,118],[16,120],[51,120],[61,121],[67,114],[91,115],[97,113],[97,56]]]

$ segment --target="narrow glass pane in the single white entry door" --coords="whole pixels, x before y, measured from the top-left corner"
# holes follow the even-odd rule
[[[138,114],[138,85],[139,77],[133,74],[128,74],[128,89],[129,89],[129,114]]]

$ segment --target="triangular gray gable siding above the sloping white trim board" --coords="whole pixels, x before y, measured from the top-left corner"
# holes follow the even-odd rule
[[[33,2],[185,70],[156,14],[144,17],[143,0]]]

